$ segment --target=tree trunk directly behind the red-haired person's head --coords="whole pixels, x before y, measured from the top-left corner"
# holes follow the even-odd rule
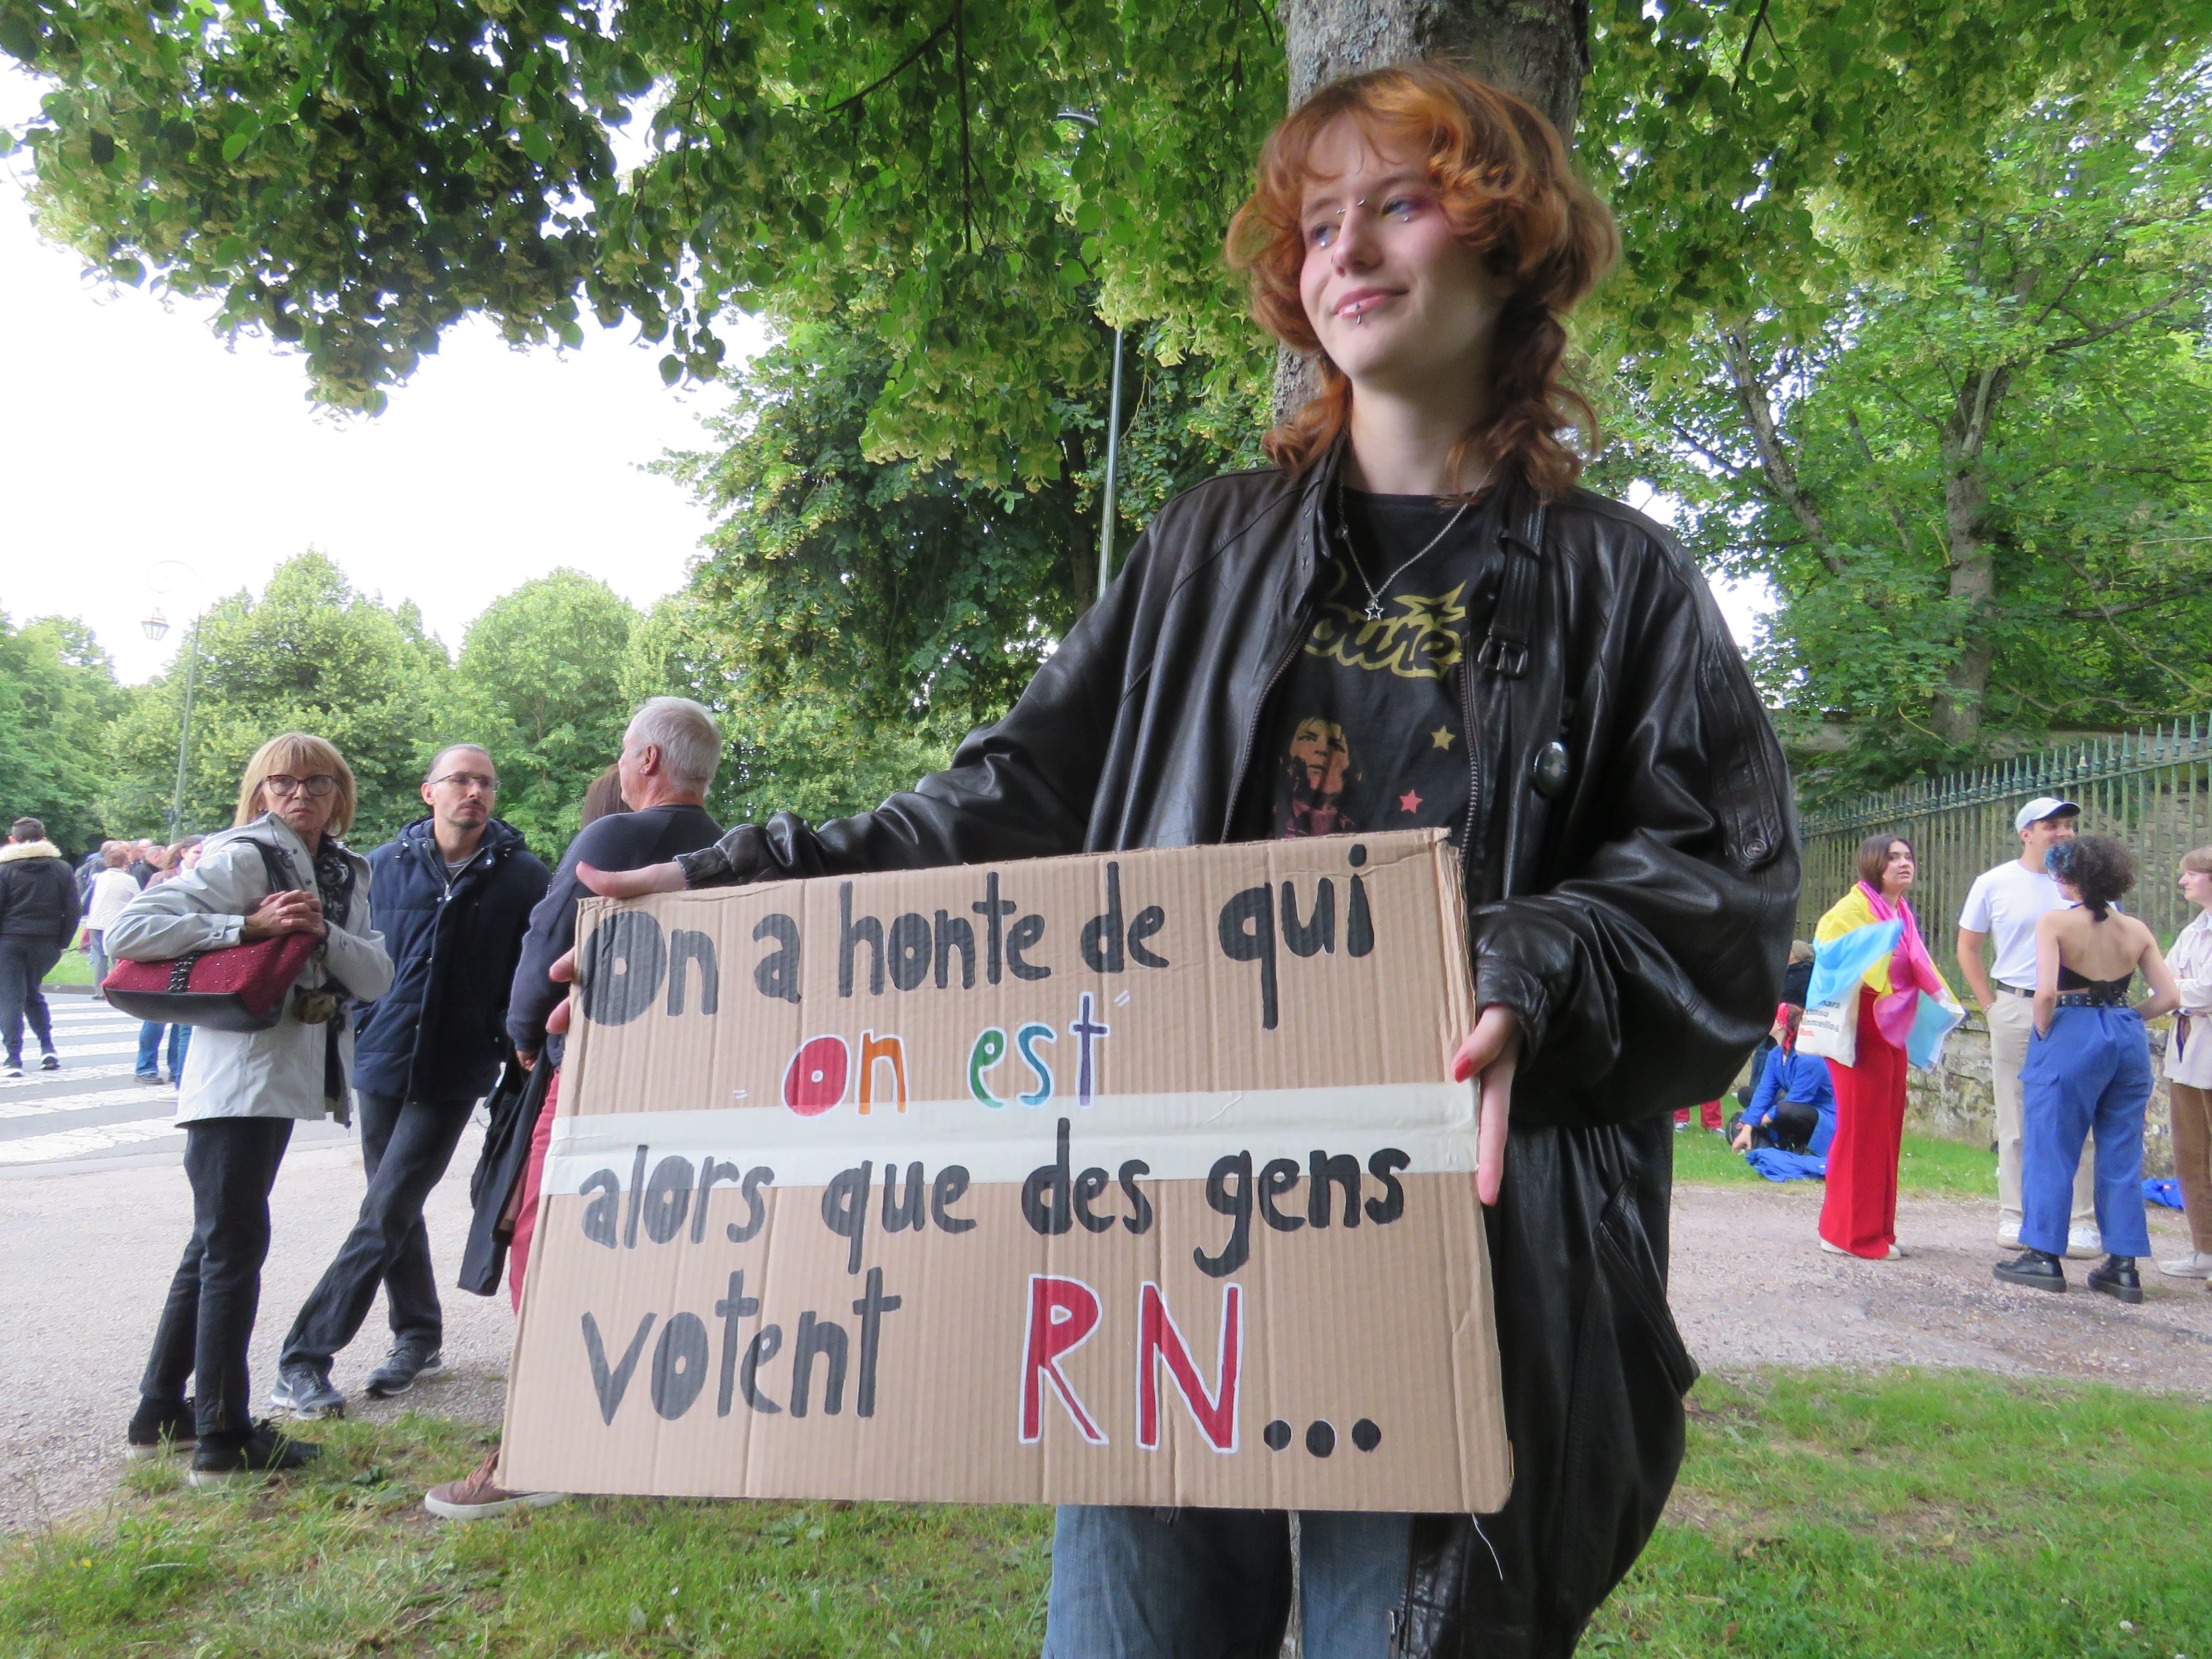
[[[1290,106],[1338,75],[1449,58],[1473,75],[1526,97],[1559,137],[1575,142],[1582,77],[1590,69],[1588,0],[1281,0],[1290,58]],[[1274,414],[1310,396],[1305,358],[1281,352]]]

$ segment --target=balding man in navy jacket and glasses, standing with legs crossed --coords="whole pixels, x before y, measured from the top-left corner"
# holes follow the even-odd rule
[[[369,1371],[369,1396],[405,1394],[440,1367],[422,1201],[445,1177],[469,1108],[507,1062],[515,958],[551,880],[522,836],[491,816],[498,792],[484,750],[440,750],[422,781],[429,816],[369,854],[369,914],[394,964],[392,989],[363,1006],[354,1037],[369,1190],[276,1360],[270,1400],[301,1418],[345,1411],[330,1360],[354,1340],[378,1285],[394,1343]]]

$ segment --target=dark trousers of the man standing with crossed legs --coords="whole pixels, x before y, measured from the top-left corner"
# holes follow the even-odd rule
[[[378,1285],[385,1287],[385,1314],[396,1340],[420,1347],[445,1340],[422,1203],[445,1179],[473,1102],[403,1099],[365,1088],[356,1088],[354,1099],[361,1102],[361,1164],[369,1190],[354,1230],[292,1321],[279,1365],[307,1360],[327,1367],[361,1334]]]

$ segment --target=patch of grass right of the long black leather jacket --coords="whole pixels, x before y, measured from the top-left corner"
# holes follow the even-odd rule
[[[1586,1655],[2212,1655],[2212,1407],[1975,1371],[1708,1378]]]

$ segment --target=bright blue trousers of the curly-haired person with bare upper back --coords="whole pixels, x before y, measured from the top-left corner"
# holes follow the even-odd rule
[[[2148,1256],[2143,1108],[2150,1042],[2135,1009],[2059,1009],[2020,1068],[2020,1243],[2066,1254],[2081,1141],[2097,1137],[2097,1232],[2115,1256]]]

